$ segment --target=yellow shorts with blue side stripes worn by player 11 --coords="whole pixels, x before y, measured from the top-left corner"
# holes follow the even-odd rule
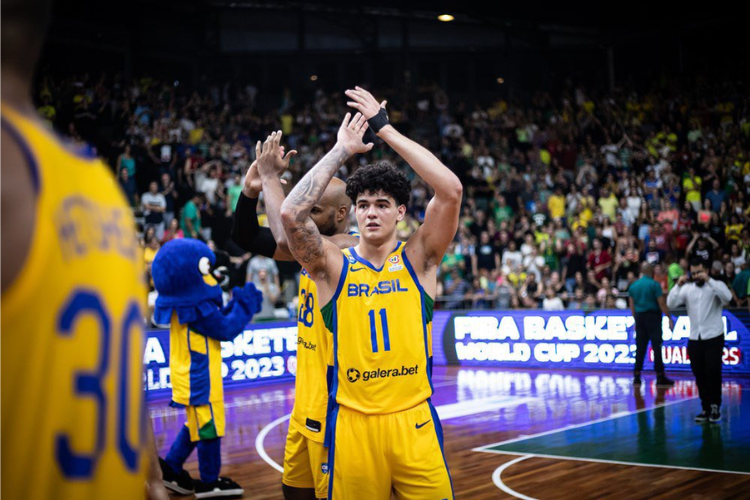
[[[410,410],[365,415],[338,406],[331,414],[328,450],[330,499],[366,496],[453,500],[453,484],[443,453],[443,428],[432,404]]]

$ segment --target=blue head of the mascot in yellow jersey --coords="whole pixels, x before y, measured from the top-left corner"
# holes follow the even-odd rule
[[[215,263],[214,253],[198,240],[176,239],[161,247],[151,265],[159,292],[154,312],[158,324],[169,323],[173,310],[180,323],[186,323],[222,306],[221,287],[212,275]]]

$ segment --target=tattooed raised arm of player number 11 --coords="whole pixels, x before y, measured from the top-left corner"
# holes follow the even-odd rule
[[[367,120],[360,113],[351,121],[350,118],[351,114],[347,113],[333,149],[299,181],[281,205],[281,222],[289,250],[318,286],[321,304],[326,304],[333,297],[341,275],[343,257],[336,245],[320,236],[320,231],[310,219],[310,211],[346,160],[355,153],[366,153],[372,149],[372,144],[362,143]],[[281,189],[275,173],[271,175],[261,170],[261,176],[265,189]]]

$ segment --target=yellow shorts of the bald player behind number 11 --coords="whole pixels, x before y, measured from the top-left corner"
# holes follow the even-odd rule
[[[328,450],[289,425],[281,482],[292,488],[315,488],[317,498],[328,498]]]

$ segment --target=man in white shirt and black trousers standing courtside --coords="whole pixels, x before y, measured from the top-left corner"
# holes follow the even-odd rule
[[[695,375],[703,411],[696,422],[718,422],[721,419],[721,368],[724,354],[724,322],[721,319],[725,305],[732,299],[726,284],[708,276],[703,261],[690,263],[690,279],[680,276],[676,286],[667,296],[667,307],[685,306],[690,318],[688,355],[690,368]]]

